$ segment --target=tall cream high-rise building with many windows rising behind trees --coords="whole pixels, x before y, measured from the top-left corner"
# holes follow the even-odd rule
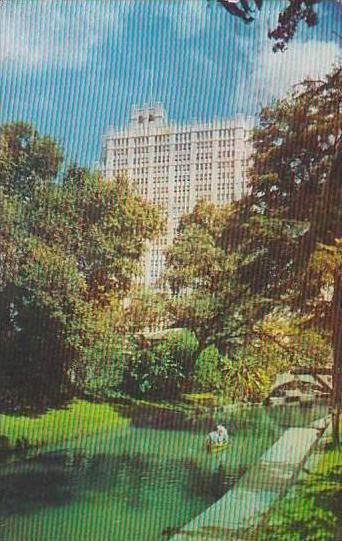
[[[134,107],[126,127],[110,128],[104,135],[105,177],[126,171],[143,197],[162,206],[167,219],[166,235],[146,250],[146,285],[158,286],[165,247],[172,242],[182,214],[200,199],[223,204],[246,192],[252,127],[252,120],[241,116],[211,124],[169,124],[163,108],[155,105]]]

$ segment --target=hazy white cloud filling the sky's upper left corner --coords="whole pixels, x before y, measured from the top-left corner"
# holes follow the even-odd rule
[[[119,37],[130,2],[15,0],[2,6],[0,63],[37,69],[82,66],[108,32]]]

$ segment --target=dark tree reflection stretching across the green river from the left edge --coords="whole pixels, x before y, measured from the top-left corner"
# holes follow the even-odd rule
[[[184,485],[189,496],[205,494],[209,500],[225,491],[223,478],[218,484],[210,471],[202,471],[194,461],[164,463],[142,454],[88,456],[85,452],[60,452],[32,458],[16,469],[16,473],[3,472],[0,477],[2,515],[65,505],[88,491],[118,497],[132,508],[145,507],[151,491],[167,490],[174,484]]]

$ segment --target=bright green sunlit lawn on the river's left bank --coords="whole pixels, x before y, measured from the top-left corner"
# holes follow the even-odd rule
[[[39,417],[0,415],[0,436],[7,438],[11,447],[18,438],[25,438],[29,445],[53,446],[127,422],[115,406],[73,400],[65,408]]]

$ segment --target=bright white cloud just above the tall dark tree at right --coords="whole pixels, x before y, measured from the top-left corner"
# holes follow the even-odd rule
[[[306,77],[322,77],[341,57],[341,48],[333,41],[294,41],[284,53],[263,47],[252,73],[252,91],[260,101],[285,95]]]

